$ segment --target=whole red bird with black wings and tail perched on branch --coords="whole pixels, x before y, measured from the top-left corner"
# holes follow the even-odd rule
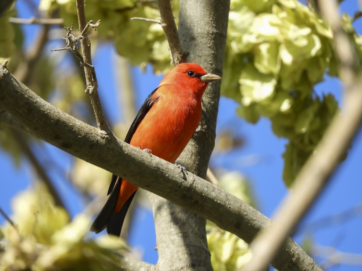
[[[174,163],[193,136],[201,119],[201,97],[207,83],[221,79],[195,63],[180,63],[171,69],[139,109],[125,142],[149,149]],[[119,236],[138,187],[113,175],[108,201],[91,230]]]

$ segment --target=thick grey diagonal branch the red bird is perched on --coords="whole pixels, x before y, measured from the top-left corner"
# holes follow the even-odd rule
[[[272,223],[210,182],[190,172],[180,174],[174,164],[150,156],[52,106],[17,81],[4,64],[0,64],[0,90],[0,106],[39,138],[209,219],[246,242],[251,242],[260,229]],[[290,238],[273,266],[278,270],[320,270]]]

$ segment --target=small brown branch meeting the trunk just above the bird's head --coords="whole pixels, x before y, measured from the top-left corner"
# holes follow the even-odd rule
[[[175,65],[186,62],[189,54],[182,49],[170,0],[157,0],[157,3],[161,13],[161,26],[170,46],[172,62]]]

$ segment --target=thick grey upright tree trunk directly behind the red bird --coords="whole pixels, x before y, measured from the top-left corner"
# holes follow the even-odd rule
[[[188,62],[222,75],[229,1],[180,1],[179,34]],[[201,125],[178,163],[205,178],[216,135],[220,82],[203,96]],[[182,173],[181,173],[182,174]],[[207,248],[206,220],[193,212],[149,193],[157,236],[158,270],[212,270]]]

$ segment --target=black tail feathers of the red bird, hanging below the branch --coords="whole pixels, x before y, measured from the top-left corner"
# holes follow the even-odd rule
[[[115,236],[119,236],[121,234],[121,229],[123,225],[123,221],[125,221],[125,217],[128,211],[128,208],[131,205],[132,199],[134,198],[137,190],[127,199],[125,204],[122,206],[121,210],[116,213],[114,211],[115,206],[117,204],[117,199],[119,195],[119,190],[121,189],[122,179],[115,184],[110,196],[102,208],[99,215],[94,219],[92,226],[90,226],[90,230],[92,232],[101,232],[105,228],[107,228],[107,233]]]

